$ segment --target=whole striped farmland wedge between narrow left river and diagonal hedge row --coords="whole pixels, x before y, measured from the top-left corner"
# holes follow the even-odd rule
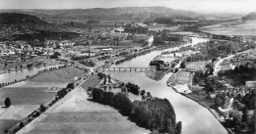
[[[77,67],[61,68],[41,73],[32,79],[22,81],[0,89],[0,102],[9,97],[12,106],[8,109],[0,108],[0,132],[10,128],[39,105],[47,103],[55,97],[56,92],[75,76],[83,75],[84,71]],[[57,87],[52,90],[52,87]]]

